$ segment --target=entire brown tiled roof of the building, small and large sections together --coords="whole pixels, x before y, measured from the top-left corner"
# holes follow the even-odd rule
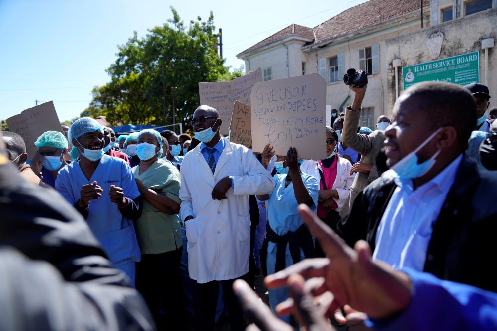
[[[429,0],[423,0],[429,6]],[[396,16],[420,8],[419,0],[371,0],[332,17],[314,29],[292,24],[272,36],[258,42],[240,54],[250,52],[262,46],[290,36],[291,34],[315,39],[314,43],[339,36],[344,33],[362,30],[368,26],[389,20]],[[313,32],[314,31],[314,32]]]

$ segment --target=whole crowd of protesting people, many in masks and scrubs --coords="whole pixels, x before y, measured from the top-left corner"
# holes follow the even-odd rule
[[[416,84],[374,130],[359,125],[367,85],[350,89],[353,103],[331,112],[323,160],[235,144],[207,105],[192,115],[193,137],[116,136],[84,117],[43,133],[30,160],[23,139],[2,132],[0,243],[15,250],[0,250],[0,271],[18,261],[12,269],[26,276],[0,300],[26,301],[20,285],[40,272],[40,300],[53,303],[45,315],[59,310],[59,320],[42,319],[47,328],[74,318],[208,331],[227,315],[241,331],[245,309],[253,330],[495,329],[488,88]],[[252,291],[261,275],[270,309]],[[0,329],[28,329],[27,310]]]

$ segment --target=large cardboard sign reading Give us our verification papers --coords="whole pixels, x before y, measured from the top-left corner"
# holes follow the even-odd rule
[[[326,158],[326,84],[320,74],[256,83],[250,100],[255,152],[269,143],[277,155],[292,146],[299,158]]]

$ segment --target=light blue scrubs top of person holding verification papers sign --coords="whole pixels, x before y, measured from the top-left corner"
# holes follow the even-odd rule
[[[273,176],[275,187],[273,192],[269,195],[269,199],[266,201],[267,219],[269,225],[279,236],[285,235],[288,231],[295,232],[302,224],[304,224],[297,211],[299,204],[297,203],[297,199],[295,199],[293,182],[288,184],[285,188],[286,176],[287,175],[281,175],[278,173]],[[310,176],[303,172],[301,173],[301,177],[314,202],[311,210],[316,212],[319,190],[318,180],[316,177]],[[276,244],[269,242],[267,251],[269,253],[273,251],[276,252]],[[286,254],[290,254],[289,245],[286,247]]]

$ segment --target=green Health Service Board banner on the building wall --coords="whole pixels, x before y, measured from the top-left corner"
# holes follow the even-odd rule
[[[480,81],[480,53],[472,52],[402,68],[404,89],[422,81],[446,81],[458,85]]]

